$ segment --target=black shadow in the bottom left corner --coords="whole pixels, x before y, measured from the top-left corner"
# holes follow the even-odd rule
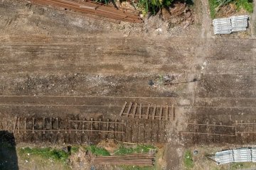
[[[6,130],[0,131],[0,169],[18,169],[14,134]]]

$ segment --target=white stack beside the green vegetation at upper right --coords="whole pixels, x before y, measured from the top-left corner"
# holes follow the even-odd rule
[[[244,31],[248,27],[249,16],[231,16],[230,18],[218,18],[213,20],[214,34],[230,34]]]

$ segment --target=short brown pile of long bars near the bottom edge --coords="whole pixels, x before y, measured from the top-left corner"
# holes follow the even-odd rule
[[[96,157],[94,162],[95,164],[153,166],[154,154],[127,154],[120,156]]]

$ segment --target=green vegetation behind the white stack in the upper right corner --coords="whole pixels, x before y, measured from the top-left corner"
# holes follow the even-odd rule
[[[228,4],[235,4],[238,11],[241,8],[245,9],[248,13],[253,11],[253,0],[209,0],[210,17],[215,18],[219,9]]]

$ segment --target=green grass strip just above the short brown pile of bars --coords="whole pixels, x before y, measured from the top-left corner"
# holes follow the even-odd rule
[[[133,153],[147,153],[150,149],[156,149],[156,147],[152,145],[137,145],[136,147],[124,147],[124,145],[120,145],[114,154],[124,155]]]

